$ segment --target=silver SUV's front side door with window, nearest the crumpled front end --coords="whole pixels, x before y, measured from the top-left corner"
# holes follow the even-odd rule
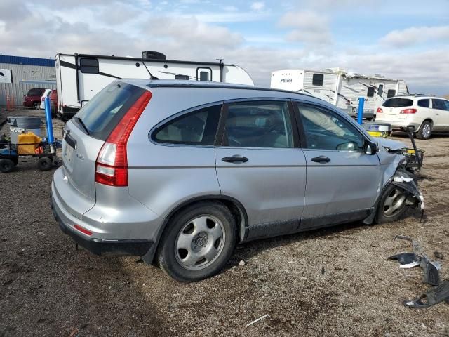
[[[297,103],[307,183],[302,229],[368,216],[380,189],[377,155],[363,151],[364,136],[337,113]]]

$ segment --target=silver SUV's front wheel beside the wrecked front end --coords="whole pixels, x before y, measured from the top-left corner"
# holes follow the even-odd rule
[[[390,184],[380,198],[376,223],[391,223],[398,220],[407,210],[407,194],[396,185]]]

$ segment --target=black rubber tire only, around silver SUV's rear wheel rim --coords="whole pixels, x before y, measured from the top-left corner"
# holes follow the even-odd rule
[[[177,244],[178,234],[181,234],[180,231],[182,228],[191,223],[195,218],[201,216],[213,216],[220,220],[224,230],[225,242],[220,243],[222,249],[212,263],[206,265],[203,269],[189,270],[178,261],[175,255],[177,254],[175,246]],[[217,201],[200,202],[188,206],[186,209],[182,209],[182,211],[176,213],[171,218],[161,237],[161,242],[156,252],[156,260],[159,267],[177,281],[199,281],[213,276],[222,270],[234,251],[236,238],[236,223],[229,209]]]

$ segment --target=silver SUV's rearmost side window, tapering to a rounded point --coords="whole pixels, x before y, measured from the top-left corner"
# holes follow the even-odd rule
[[[156,128],[152,139],[158,143],[213,145],[222,105],[203,107],[182,114]]]

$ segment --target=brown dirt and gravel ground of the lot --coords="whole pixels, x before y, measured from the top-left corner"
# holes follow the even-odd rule
[[[410,251],[394,235],[410,235],[429,256],[444,254],[441,275],[449,279],[447,136],[417,141],[427,151],[423,223],[410,212],[392,224],[243,244],[220,275],[194,284],[136,258],[77,251],[48,206],[53,171],[20,162],[0,173],[0,336],[449,336],[448,304],[402,304],[429,288],[422,270],[387,260]]]

